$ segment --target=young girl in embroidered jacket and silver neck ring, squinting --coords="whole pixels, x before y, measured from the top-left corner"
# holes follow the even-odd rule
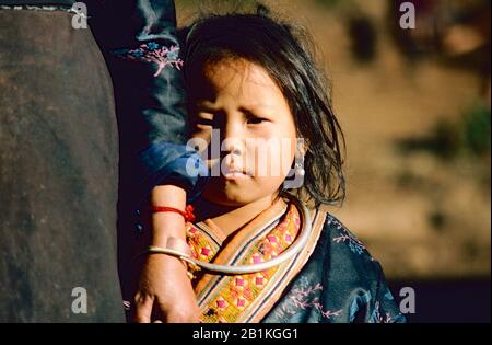
[[[323,207],[344,196],[343,138],[293,28],[263,8],[213,15],[190,26],[185,57],[191,138],[211,176],[187,243],[145,254],[188,265],[200,321],[405,321],[378,262]]]

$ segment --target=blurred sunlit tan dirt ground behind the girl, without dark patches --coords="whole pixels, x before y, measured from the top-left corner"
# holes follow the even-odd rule
[[[391,279],[489,276],[490,153],[443,161],[427,152],[401,154],[395,145],[422,137],[442,118],[458,120],[482,97],[480,77],[436,59],[410,64],[390,39],[385,1],[356,1],[378,33],[377,57],[365,65],[352,57],[343,13],[316,1],[265,2],[312,32],[333,80],[347,139],[348,195],[330,211]],[[181,24],[196,12],[190,3],[177,1]]]

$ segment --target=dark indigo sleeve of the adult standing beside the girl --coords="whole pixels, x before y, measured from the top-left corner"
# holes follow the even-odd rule
[[[172,0],[87,2],[90,25],[112,74],[120,137],[120,206],[134,210],[155,183],[178,181],[189,197],[199,176],[186,171],[187,115]],[[176,49],[173,51],[167,51]],[[171,61],[164,68],[160,64]],[[174,61],[174,62],[173,62]],[[183,64],[183,60],[181,62]],[[159,181],[160,177],[162,181]]]

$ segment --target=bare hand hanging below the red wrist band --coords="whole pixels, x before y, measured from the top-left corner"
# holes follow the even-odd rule
[[[148,255],[140,272],[133,304],[134,322],[199,322],[195,292],[178,258]]]

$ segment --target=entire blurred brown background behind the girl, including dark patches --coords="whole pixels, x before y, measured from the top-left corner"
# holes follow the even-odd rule
[[[262,1],[305,26],[333,82],[348,195],[331,208],[385,268],[412,322],[490,322],[491,2]],[[178,24],[256,1],[176,0]]]

